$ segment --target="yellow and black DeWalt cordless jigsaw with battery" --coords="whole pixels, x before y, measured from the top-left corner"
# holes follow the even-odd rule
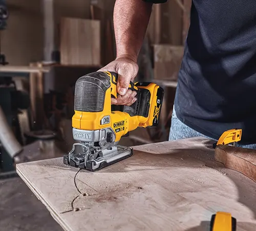
[[[99,170],[133,155],[131,147],[118,145],[121,137],[137,127],[156,127],[159,123],[163,89],[146,82],[130,83],[137,92],[132,106],[112,110],[111,97],[117,97],[118,74],[93,72],[75,85],[72,118],[74,143],[63,163],[88,171]]]

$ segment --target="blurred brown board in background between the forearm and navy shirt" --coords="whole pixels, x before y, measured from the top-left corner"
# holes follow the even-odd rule
[[[183,53],[183,46],[154,45],[154,78],[177,80]]]

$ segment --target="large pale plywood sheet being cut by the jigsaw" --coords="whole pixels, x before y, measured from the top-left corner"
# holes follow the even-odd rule
[[[215,162],[212,143],[136,146],[131,158],[96,172],[62,158],[18,164],[17,172],[69,231],[206,231],[217,211],[236,217],[237,230],[254,231],[256,184]]]

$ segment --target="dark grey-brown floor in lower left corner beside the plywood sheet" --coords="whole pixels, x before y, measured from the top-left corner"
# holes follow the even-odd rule
[[[1,231],[63,231],[19,177],[0,181]]]

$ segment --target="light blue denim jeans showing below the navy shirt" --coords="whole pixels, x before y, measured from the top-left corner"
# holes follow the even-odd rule
[[[169,141],[180,140],[180,139],[191,138],[191,137],[199,137],[199,136],[205,137],[207,139],[215,140],[215,139],[212,139],[211,137],[205,136],[197,132],[194,129],[191,129],[189,126],[181,122],[178,119],[175,112],[175,108],[174,108],[173,115],[172,115],[172,124],[170,125]],[[237,144],[237,146],[243,147],[243,148],[256,149],[256,144],[247,144],[247,145]]]

